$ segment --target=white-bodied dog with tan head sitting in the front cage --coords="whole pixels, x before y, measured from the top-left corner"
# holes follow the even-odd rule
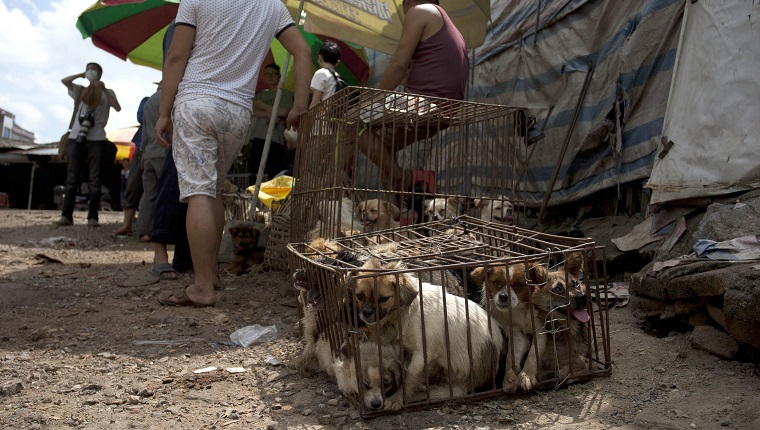
[[[370,259],[362,269],[367,271],[349,279],[355,310],[366,325],[369,340],[400,343],[408,351],[407,394],[425,390],[431,382],[431,369],[440,369],[447,381],[445,386],[430,388],[432,400],[448,398],[449,387],[454,396],[461,396],[490,381],[504,336],[483,308],[474,303],[468,306],[467,299],[408,272],[378,275],[378,269],[403,270],[399,262],[383,264]],[[391,409],[401,407],[400,393],[396,396],[389,402]]]

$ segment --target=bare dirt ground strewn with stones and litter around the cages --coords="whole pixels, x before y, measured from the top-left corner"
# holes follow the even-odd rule
[[[159,293],[190,278],[120,286],[152,258],[110,235],[121,213],[97,229],[84,213],[54,228],[58,216],[0,212],[0,428],[760,428],[756,365],[694,350],[688,334],[653,337],[628,307],[610,311],[609,377],[362,419],[326,376],[283,365],[301,350],[287,274],[226,276],[216,307],[167,308]],[[231,346],[252,324],[277,339]]]

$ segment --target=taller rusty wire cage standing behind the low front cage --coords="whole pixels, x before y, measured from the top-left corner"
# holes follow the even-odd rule
[[[468,214],[519,224],[520,108],[348,87],[302,118],[292,242]]]

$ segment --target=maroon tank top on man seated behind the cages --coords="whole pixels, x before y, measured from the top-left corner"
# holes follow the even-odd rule
[[[470,60],[462,34],[435,5],[443,17],[443,27],[417,44],[406,80],[409,92],[448,99],[464,99]]]

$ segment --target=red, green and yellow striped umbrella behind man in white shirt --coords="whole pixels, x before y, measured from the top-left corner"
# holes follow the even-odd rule
[[[179,0],[101,0],[82,12],[76,25],[82,37],[91,38],[98,48],[122,60],[161,70],[164,33],[178,8]],[[316,71],[319,47],[329,38],[301,32],[311,47]],[[349,85],[363,85],[369,77],[364,48],[334,41],[341,47],[338,73]],[[263,65],[275,62],[282,66],[285,54],[285,48],[275,40]],[[262,85],[266,86],[263,70],[257,89]],[[285,87],[293,88],[292,72],[285,77]]]

